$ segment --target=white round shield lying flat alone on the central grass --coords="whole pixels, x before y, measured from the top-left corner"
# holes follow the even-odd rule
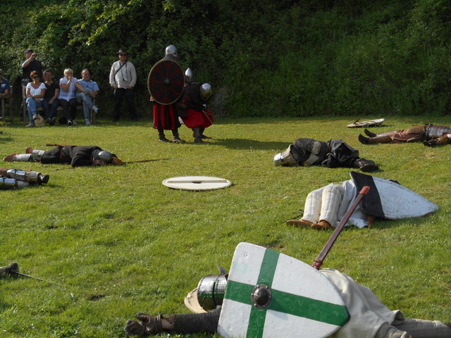
[[[229,187],[232,182],[225,178],[209,176],[180,176],[163,180],[163,185],[181,190],[214,190]]]

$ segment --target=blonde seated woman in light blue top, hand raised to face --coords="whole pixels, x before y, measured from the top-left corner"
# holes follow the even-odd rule
[[[73,70],[66,68],[64,70],[64,77],[59,80],[58,101],[59,105],[64,109],[64,118],[68,125],[75,125],[75,115],[77,114],[77,100],[75,100],[75,89],[80,89],[83,92],[85,89],[82,87],[78,80],[73,77]],[[61,123],[60,119],[60,123]]]

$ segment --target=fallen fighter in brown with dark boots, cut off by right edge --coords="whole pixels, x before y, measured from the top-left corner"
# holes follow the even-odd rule
[[[412,125],[409,129],[375,134],[364,130],[366,136],[359,134],[362,144],[423,142],[425,146],[439,146],[451,143],[451,127],[445,125]]]

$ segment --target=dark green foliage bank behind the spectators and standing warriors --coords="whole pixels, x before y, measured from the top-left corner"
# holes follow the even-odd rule
[[[0,68],[13,82],[23,51],[56,77],[91,69],[104,92],[119,48],[137,68],[138,106],[168,44],[214,87],[219,115],[447,114],[446,0],[11,0]],[[104,96],[105,101],[110,96]]]

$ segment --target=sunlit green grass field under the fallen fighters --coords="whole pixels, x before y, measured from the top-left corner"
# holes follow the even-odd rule
[[[381,118],[375,116],[373,118]],[[378,177],[397,180],[440,206],[426,218],[346,228],[323,268],[351,275],[389,308],[410,318],[451,321],[450,146],[363,145],[356,118],[218,119],[210,144],[158,142],[152,121],[100,121],[87,127],[0,127],[1,158],[47,143],[98,145],[120,166],[6,163],[49,174],[48,184],[0,191],[0,266],[16,261],[27,277],[0,280],[0,336],[125,337],[137,312],[187,313],[187,292],[217,265],[230,267],[235,246],[251,242],[312,263],[331,231],[285,225],[300,218],[307,194],[350,179],[350,169],[282,168],[273,156],[298,137],[343,139],[375,161]],[[385,120],[375,132],[451,118]],[[171,136],[171,132],[166,132]],[[174,176],[223,177],[226,189],[192,192],[161,182]],[[57,283],[57,284],[54,284]],[[207,337],[193,335],[192,337]]]

